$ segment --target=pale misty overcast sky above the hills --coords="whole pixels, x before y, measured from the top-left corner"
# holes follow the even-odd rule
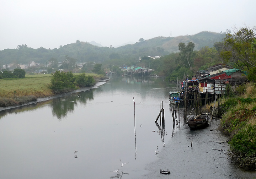
[[[158,36],[256,26],[255,0],[1,0],[0,50],[95,41],[113,47]]]

